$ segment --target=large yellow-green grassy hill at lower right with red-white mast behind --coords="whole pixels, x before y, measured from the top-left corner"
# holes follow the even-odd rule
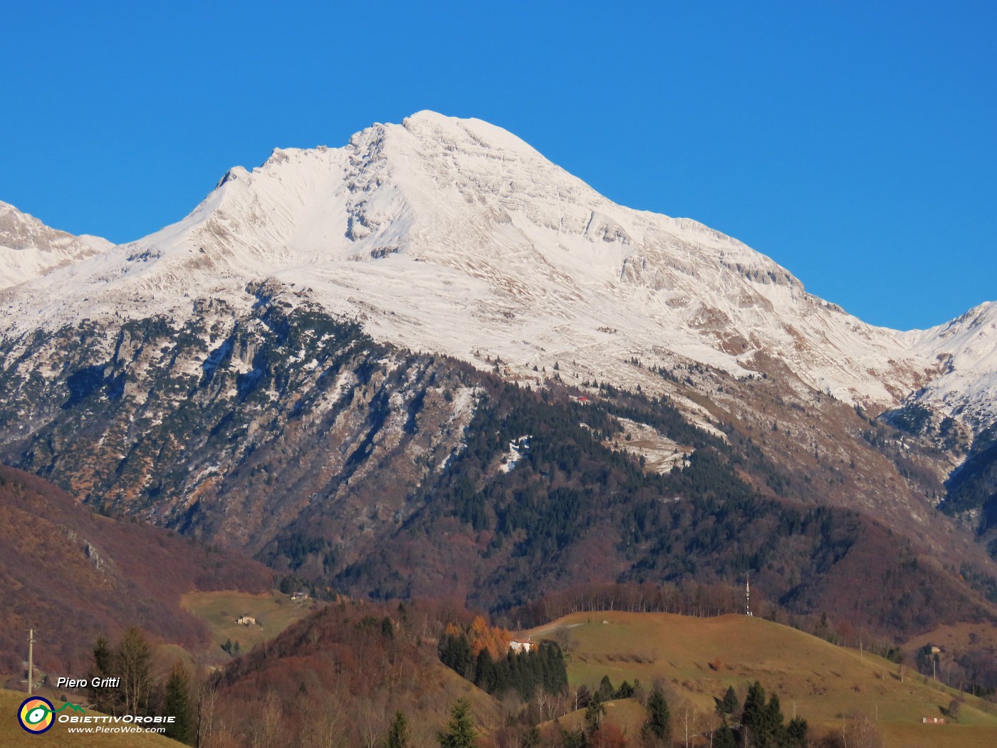
[[[796,710],[819,732],[839,728],[842,716],[864,712],[877,721],[887,746],[997,745],[993,704],[966,695],[957,724],[924,725],[922,717],[945,716],[955,691],[909,670],[901,680],[897,665],[881,657],[762,618],[576,613],[529,635],[568,642],[572,687],[594,688],[603,675],[613,685],[661,681],[670,691],[673,719],[684,700],[709,714],[714,696],[728,686],[743,699],[748,685],[759,680],[779,695],[787,718]],[[607,718],[614,711],[625,715],[621,726],[635,734],[640,710],[617,706]]]

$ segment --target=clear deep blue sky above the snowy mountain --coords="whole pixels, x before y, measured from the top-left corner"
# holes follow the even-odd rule
[[[997,298],[995,6],[7,3],[0,199],[126,241],[274,147],[432,109],[929,326]]]

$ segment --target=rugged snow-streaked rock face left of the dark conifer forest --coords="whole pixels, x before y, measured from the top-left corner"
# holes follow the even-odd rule
[[[2,375],[5,460],[250,553],[309,507],[335,522],[330,543],[400,523],[406,493],[460,449],[473,387],[256,291],[247,316],[203,301],[182,325],[35,336]]]

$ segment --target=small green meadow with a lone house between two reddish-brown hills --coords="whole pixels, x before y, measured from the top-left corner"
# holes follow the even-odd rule
[[[301,620],[312,611],[315,601],[292,602],[290,597],[277,591],[239,592],[188,592],[180,598],[184,610],[204,621],[211,631],[209,657],[212,662],[227,662],[229,656],[221,649],[227,641],[238,641],[239,650],[248,652],[256,644],[274,638],[291,623]],[[243,625],[235,619],[249,615],[255,624]]]

